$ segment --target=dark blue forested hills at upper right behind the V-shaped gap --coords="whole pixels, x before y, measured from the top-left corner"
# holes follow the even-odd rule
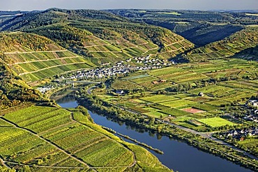
[[[162,26],[197,46],[222,40],[246,25],[258,24],[258,17],[234,11],[199,10],[107,10],[135,21]]]

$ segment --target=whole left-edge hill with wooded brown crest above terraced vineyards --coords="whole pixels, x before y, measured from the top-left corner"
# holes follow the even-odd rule
[[[31,33],[1,33],[0,53],[3,62],[27,82],[95,66],[54,41]]]

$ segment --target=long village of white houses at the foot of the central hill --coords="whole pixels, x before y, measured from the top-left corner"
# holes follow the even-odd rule
[[[128,64],[132,61],[135,61],[135,63],[138,65]],[[174,61],[167,62],[163,59],[150,58],[149,56],[128,58],[126,61],[119,61],[117,63],[114,63],[113,65],[111,63],[103,63],[102,68],[79,70],[77,72],[60,75],[58,76],[58,79],[54,80],[56,81],[56,84],[46,84],[43,87],[39,87],[38,91],[40,91],[40,93],[46,93],[56,86],[64,86],[66,84],[70,84],[69,81],[73,80],[100,81],[101,79],[108,77],[126,75],[130,72],[136,72],[139,70],[159,69],[172,64],[175,64]]]

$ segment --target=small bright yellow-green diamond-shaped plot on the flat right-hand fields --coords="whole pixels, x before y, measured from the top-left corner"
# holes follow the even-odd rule
[[[223,118],[217,118],[217,117],[199,119],[198,121],[211,127],[220,127],[224,125],[236,125],[235,123],[232,123],[229,120],[225,120]]]

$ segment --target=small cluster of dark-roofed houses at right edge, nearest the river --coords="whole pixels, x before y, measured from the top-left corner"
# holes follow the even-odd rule
[[[236,129],[236,130],[229,130],[227,132],[220,133],[220,138],[225,136],[228,138],[232,136],[234,139],[238,139],[243,141],[247,136],[257,136],[258,135],[258,127],[250,127],[245,129]]]

